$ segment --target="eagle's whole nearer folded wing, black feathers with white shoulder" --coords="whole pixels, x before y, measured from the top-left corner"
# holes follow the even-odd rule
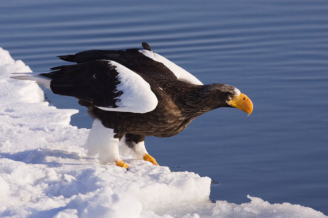
[[[91,102],[103,110],[146,113],[156,108],[154,92],[139,74],[111,60],[95,60],[52,68],[42,74],[51,78],[55,94]]]

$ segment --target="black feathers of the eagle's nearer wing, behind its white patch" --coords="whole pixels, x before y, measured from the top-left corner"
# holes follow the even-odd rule
[[[82,64],[51,68],[56,70],[42,74],[51,78],[51,91],[59,95],[73,96],[91,102],[97,107],[116,108],[115,97],[118,72],[107,61],[97,60]]]

